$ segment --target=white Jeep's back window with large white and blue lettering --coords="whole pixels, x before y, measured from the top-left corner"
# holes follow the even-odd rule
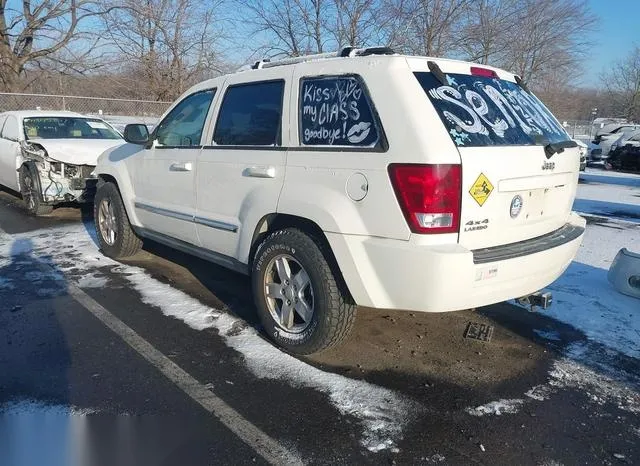
[[[415,73],[457,146],[509,146],[570,139],[551,112],[518,84],[501,79]]]

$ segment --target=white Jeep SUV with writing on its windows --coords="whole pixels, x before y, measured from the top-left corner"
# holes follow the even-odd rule
[[[384,48],[251,68],[100,157],[106,255],[149,238],[249,274],[266,332],[299,354],[340,342],[356,305],[475,308],[574,258],[578,149],[517,76]]]

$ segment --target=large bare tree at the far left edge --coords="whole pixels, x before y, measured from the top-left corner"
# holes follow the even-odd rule
[[[29,67],[81,71],[94,42],[83,26],[104,13],[95,0],[0,0],[0,80],[18,91]]]

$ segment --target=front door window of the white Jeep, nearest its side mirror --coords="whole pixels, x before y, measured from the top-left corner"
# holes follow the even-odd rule
[[[155,137],[158,145],[199,146],[204,122],[215,92],[215,89],[197,92],[176,105],[156,129]]]

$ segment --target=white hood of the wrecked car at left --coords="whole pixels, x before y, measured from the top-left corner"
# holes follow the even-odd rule
[[[122,139],[29,139],[47,151],[49,158],[71,165],[92,165],[104,151],[124,144]]]

